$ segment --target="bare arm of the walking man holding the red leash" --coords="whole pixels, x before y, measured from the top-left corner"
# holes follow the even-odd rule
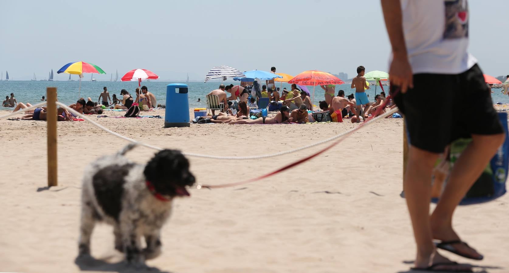
[[[412,68],[408,63],[407,48],[403,35],[403,15],[400,0],[381,0],[387,34],[392,47],[392,63],[389,68],[391,83],[401,87],[401,92],[413,87]]]

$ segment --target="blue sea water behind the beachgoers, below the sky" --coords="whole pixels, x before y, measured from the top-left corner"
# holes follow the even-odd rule
[[[154,94],[158,104],[166,103],[166,85],[174,82],[161,82],[152,80],[150,82],[142,82],[142,85],[146,85],[149,92]],[[223,84],[227,85],[233,83],[237,85],[239,82],[227,81]],[[205,96],[211,92],[211,90],[217,89],[220,82],[189,82],[189,107],[190,108],[202,108],[206,107]],[[136,97],[135,89],[138,87],[137,81],[82,81],[81,91],[78,96],[79,81],[0,81],[0,101],[4,101],[6,96],[10,97],[11,93],[14,93],[14,97],[17,102],[37,104],[41,102],[41,97],[46,96],[46,87],[53,86],[57,88],[57,96],[60,102],[67,105],[75,103],[80,97],[87,99],[92,98],[92,101],[98,101],[99,95],[103,91],[103,87],[108,87],[109,96],[112,99],[113,94],[117,95],[119,100],[122,100],[120,95],[121,89],[126,89],[131,96]],[[355,93],[355,89],[350,88],[351,84],[336,85],[336,95],[338,90],[345,91],[345,97],[349,94]],[[277,83],[276,87],[281,89],[286,87],[290,89],[288,83]],[[385,93],[388,93],[388,86],[383,86]],[[313,86],[307,86],[309,92],[313,96]],[[430,88],[434,88],[430,84]],[[372,84],[371,88],[366,90],[369,95],[370,101],[373,102],[375,98],[375,92],[379,94],[382,91],[380,86],[376,87]],[[492,94],[493,103],[501,102],[503,104],[509,103],[509,96],[502,95],[501,89],[493,89],[495,93]],[[281,94],[281,92],[279,92]],[[227,96],[230,96],[228,93]],[[323,101],[324,90],[320,86],[315,87],[315,96],[313,104],[318,105],[319,101]],[[198,99],[200,102],[197,102]],[[101,98],[102,101],[102,98]],[[5,108],[0,106],[0,110],[12,110],[12,108]]]

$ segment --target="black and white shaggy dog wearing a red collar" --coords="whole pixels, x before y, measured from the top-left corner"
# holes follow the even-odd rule
[[[114,226],[115,249],[130,263],[143,264],[160,254],[160,231],[171,214],[172,200],[189,196],[194,184],[189,162],[177,150],[159,151],[147,165],[130,162],[128,145],[114,156],[90,164],[83,177],[79,255],[90,254],[96,222]],[[147,248],[141,248],[142,236]]]

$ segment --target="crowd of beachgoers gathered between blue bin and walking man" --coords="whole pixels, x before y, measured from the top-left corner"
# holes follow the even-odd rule
[[[272,67],[271,72],[275,73],[276,68]],[[223,109],[219,114],[200,116],[193,119],[194,123],[228,123],[228,124],[276,124],[276,123],[313,123],[322,121],[343,122],[343,118],[352,118],[352,123],[364,121],[370,115],[381,115],[386,112],[386,107],[394,107],[393,102],[388,102],[385,92],[375,96],[375,102],[370,103],[369,96],[365,89],[370,89],[364,77],[365,68],[357,68],[357,76],[353,79],[351,88],[355,88],[355,95],[352,93],[345,98],[345,91],[338,90],[335,94],[335,84],[321,85],[325,92],[325,100],[319,102],[319,110],[314,111],[309,94],[299,89],[297,84],[291,85],[291,90],[275,87],[274,80],[266,80],[259,88],[260,80],[253,82],[241,82],[240,85],[220,84],[218,89],[212,90],[207,96],[217,96],[222,103]],[[258,85],[258,86],[257,86]],[[260,92],[257,92],[260,89]],[[281,93],[279,93],[281,92]],[[228,96],[230,93],[230,96]],[[268,111],[275,111],[274,116],[257,116],[260,112],[260,99],[268,98]],[[247,107],[247,109],[246,109]],[[251,109],[253,111],[251,111]],[[379,108],[382,108],[379,110]],[[263,108],[265,109],[265,108]],[[257,111],[258,110],[258,111]],[[317,114],[320,120],[317,120]]]

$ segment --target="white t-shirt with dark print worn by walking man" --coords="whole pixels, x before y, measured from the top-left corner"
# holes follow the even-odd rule
[[[468,48],[467,0],[401,0],[414,74],[460,74],[477,63]]]

